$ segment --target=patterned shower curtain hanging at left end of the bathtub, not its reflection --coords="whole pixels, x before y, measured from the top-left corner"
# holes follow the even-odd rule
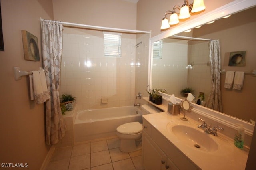
[[[62,30],[60,22],[42,21],[42,52],[46,83],[51,93],[46,101],[46,144],[56,144],[65,136],[66,125],[60,109],[60,64],[62,57]]]

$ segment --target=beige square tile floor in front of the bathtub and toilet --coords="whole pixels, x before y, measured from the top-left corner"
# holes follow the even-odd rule
[[[117,136],[56,148],[46,170],[144,170],[142,151],[119,150]]]

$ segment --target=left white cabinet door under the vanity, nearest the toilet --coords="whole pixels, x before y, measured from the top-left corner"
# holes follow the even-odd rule
[[[167,156],[146,133],[142,135],[143,164],[145,170],[164,170]]]

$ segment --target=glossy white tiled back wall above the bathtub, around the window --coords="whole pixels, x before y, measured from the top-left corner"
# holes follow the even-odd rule
[[[104,57],[101,35],[63,34],[60,94],[76,96],[79,109],[134,104],[136,35],[122,34],[119,58]]]

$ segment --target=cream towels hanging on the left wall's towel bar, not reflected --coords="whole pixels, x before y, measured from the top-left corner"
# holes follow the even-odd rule
[[[36,100],[37,104],[44,103],[50,99],[50,91],[47,89],[44,71],[32,71],[30,79],[30,98]]]

